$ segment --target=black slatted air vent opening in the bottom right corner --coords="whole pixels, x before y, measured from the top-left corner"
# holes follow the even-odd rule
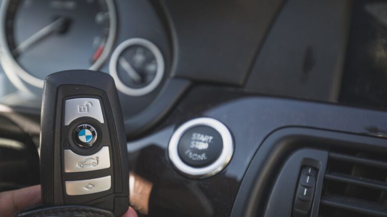
[[[387,216],[387,158],[330,153],[319,217]]]

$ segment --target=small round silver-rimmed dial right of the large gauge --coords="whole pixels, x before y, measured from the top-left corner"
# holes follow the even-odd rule
[[[160,50],[150,41],[128,39],[114,50],[109,71],[121,92],[134,96],[144,95],[160,83],[164,60]]]

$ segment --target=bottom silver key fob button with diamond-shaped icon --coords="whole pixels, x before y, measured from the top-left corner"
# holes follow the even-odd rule
[[[105,176],[95,179],[66,181],[66,193],[68,195],[84,195],[106,191],[111,188],[111,176]]]

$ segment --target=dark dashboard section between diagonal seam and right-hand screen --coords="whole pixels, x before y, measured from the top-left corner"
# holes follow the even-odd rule
[[[337,101],[350,24],[349,5],[349,1],[286,1],[251,67],[246,89]]]

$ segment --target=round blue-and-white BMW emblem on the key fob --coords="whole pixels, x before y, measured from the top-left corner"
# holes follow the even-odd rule
[[[88,124],[78,126],[73,134],[75,143],[81,148],[90,148],[97,141],[96,129]]]

